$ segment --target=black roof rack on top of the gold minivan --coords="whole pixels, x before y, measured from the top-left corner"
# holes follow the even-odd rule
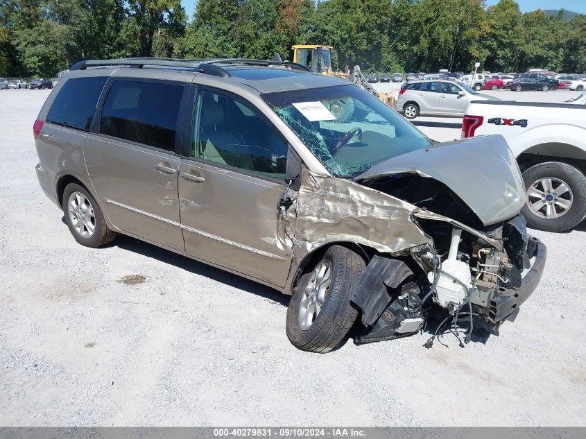
[[[148,67],[176,67],[198,71],[212,76],[229,78],[230,73],[218,64],[243,64],[262,67],[288,67],[293,70],[310,71],[307,67],[289,61],[254,60],[249,58],[205,58],[180,60],[175,58],[117,58],[114,60],[83,60],[74,64],[69,70],[85,70],[87,67],[128,66],[141,69]]]

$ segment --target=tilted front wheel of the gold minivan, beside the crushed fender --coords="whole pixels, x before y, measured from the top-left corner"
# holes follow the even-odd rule
[[[364,268],[355,252],[331,246],[301,277],[287,309],[287,337],[295,347],[325,353],[341,345],[358,317],[350,298]]]

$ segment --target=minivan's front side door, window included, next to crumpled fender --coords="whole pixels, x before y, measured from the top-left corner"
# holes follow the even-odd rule
[[[282,287],[292,259],[282,227],[293,225],[277,210],[288,146],[238,96],[198,86],[194,102],[178,183],[185,251]]]

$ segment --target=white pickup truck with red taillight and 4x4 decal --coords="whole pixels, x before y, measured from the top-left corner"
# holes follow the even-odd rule
[[[586,93],[565,103],[472,101],[462,137],[500,134],[527,189],[534,228],[562,232],[586,217]]]

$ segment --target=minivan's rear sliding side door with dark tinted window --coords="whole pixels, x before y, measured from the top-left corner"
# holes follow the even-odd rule
[[[110,222],[147,241],[184,250],[178,169],[188,84],[114,78],[87,139],[87,171]]]

